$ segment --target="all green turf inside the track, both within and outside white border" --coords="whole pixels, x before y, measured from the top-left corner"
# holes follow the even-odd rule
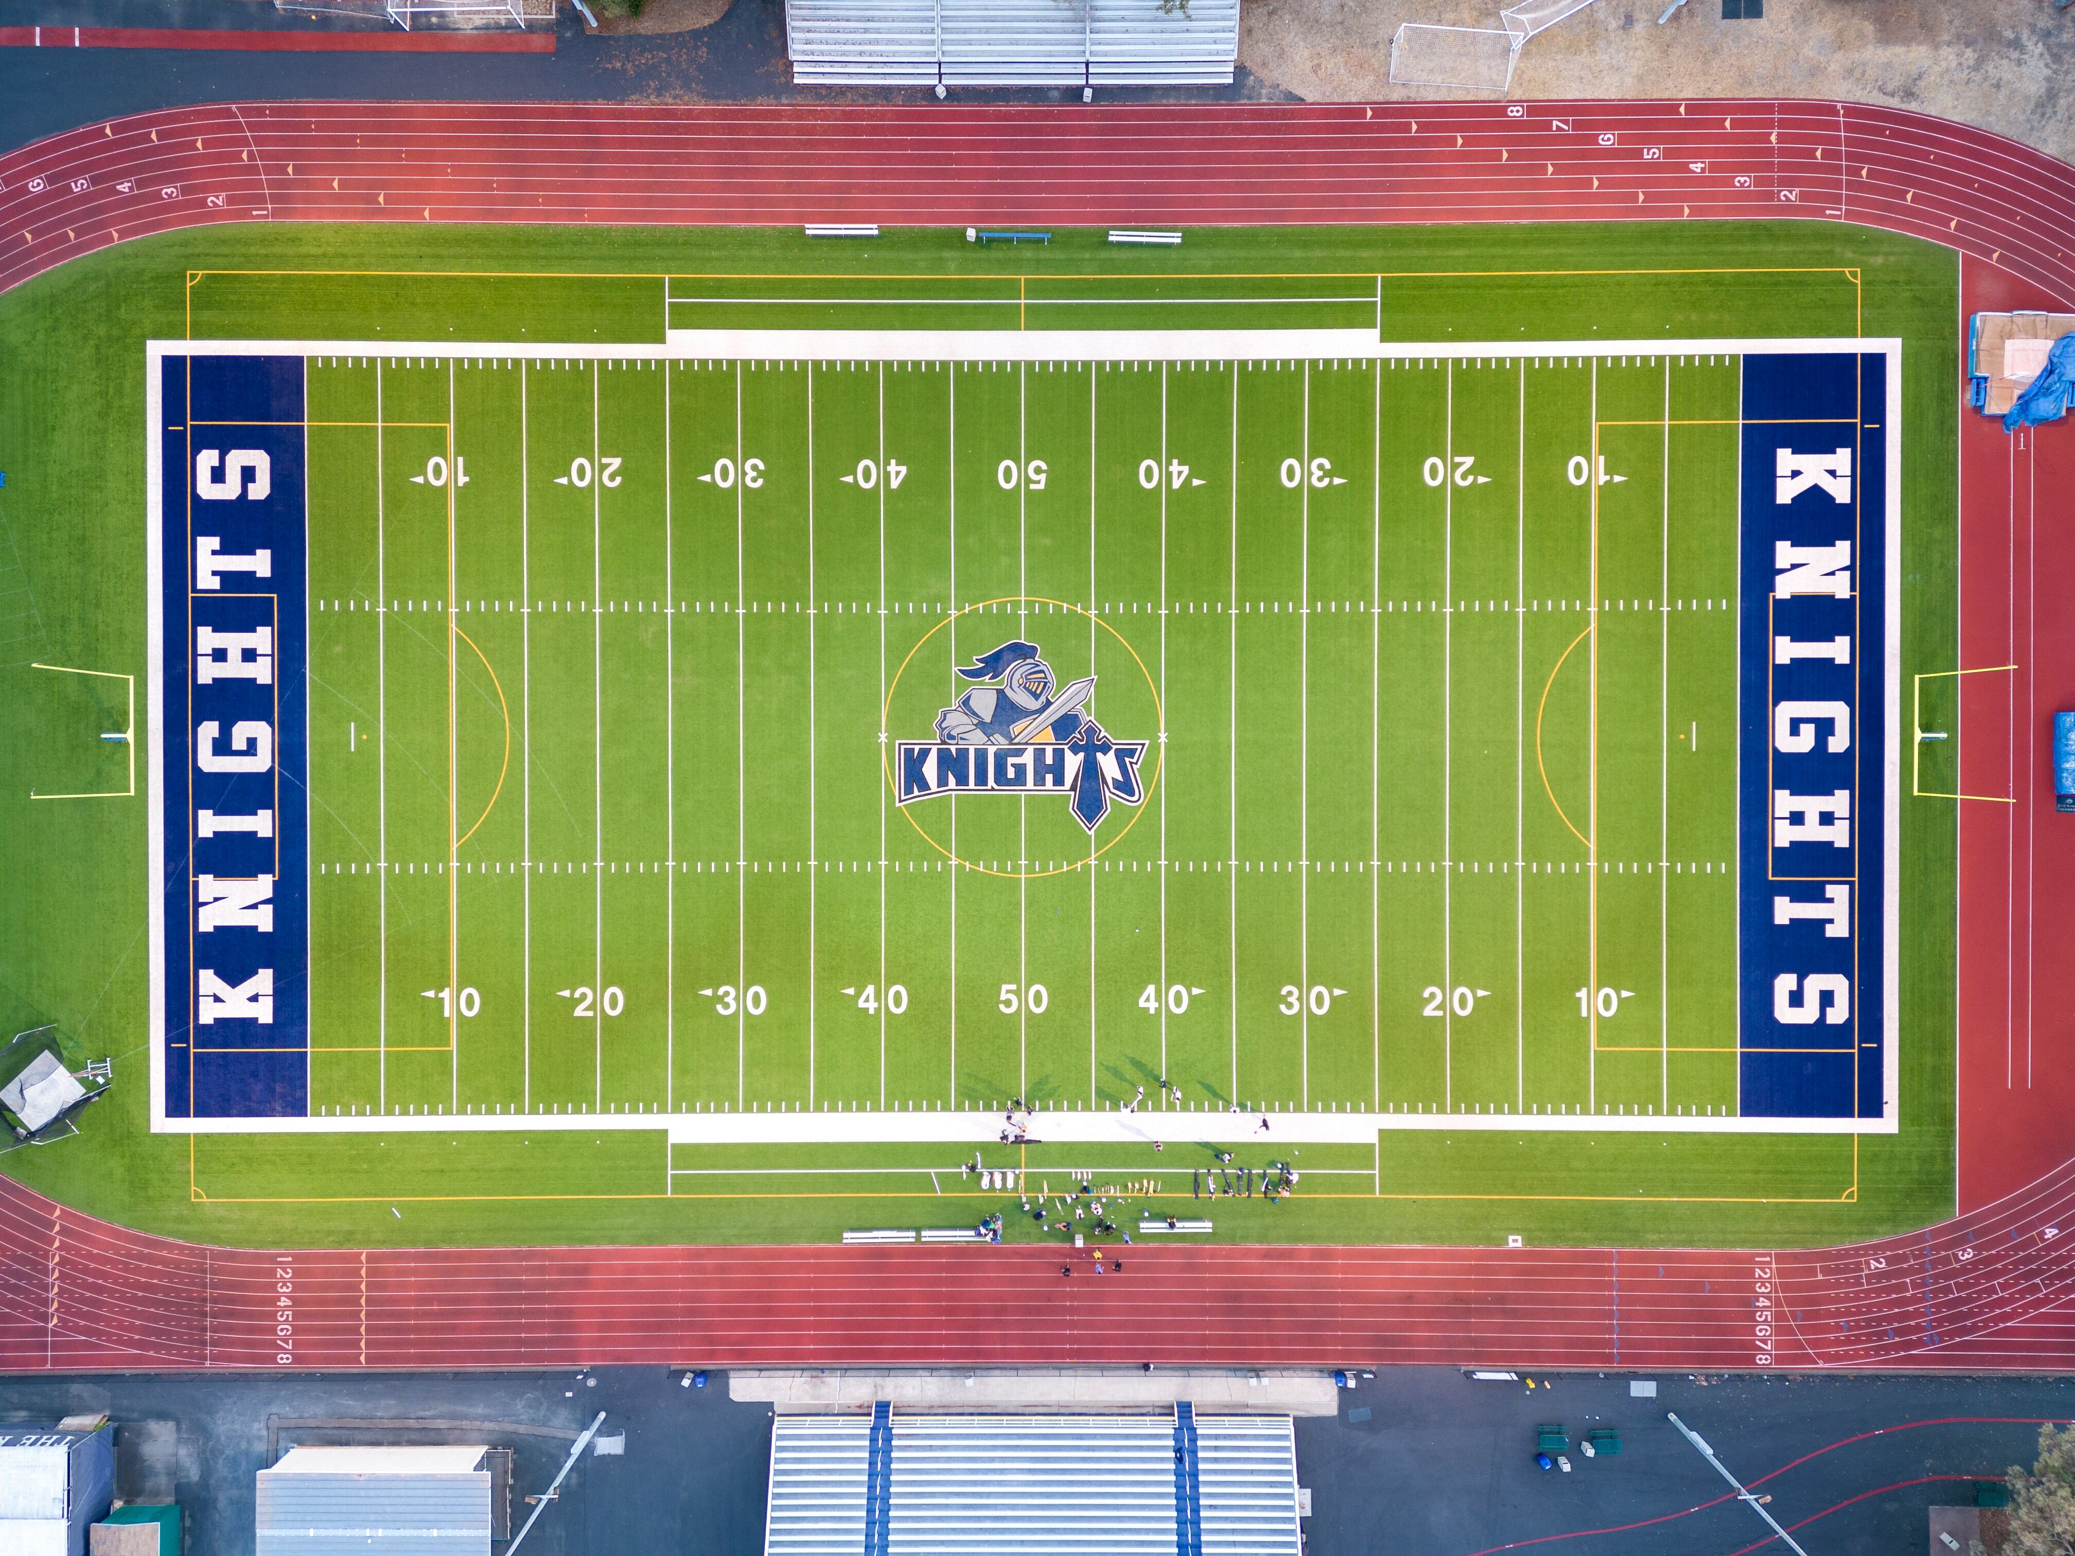
[[[1753,253],[1772,268],[1749,270]],[[1187,257],[1191,272],[1224,274],[1158,280],[1183,268],[1174,255],[1112,255],[1083,234],[1042,259],[950,234],[809,249],[795,234],[759,232],[253,228],[127,245],[0,299],[8,357],[52,363],[0,384],[0,446],[15,471],[0,525],[23,560],[33,602],[25,637],[37,643],[21,660],[141,668],[133,450],[143,338],[193,328],[210,338],[583,349],[658,338],[668,284],[670,297],[703,299],[670,305],[681,328],[1380,324],[1399,340],[1523,342],[1899,334],[1911,423],[1905,674],[1948,666],[1953,432],[1940,386],[1957,342],[1944,251],[1793,224],[1538,228],[1533,241],[1463,228],[1228,232],[1191,234]],[[1461,274],[1519,272],[1523,257],[1538,272],[1650,274]],[[407,284],[222,274],[270,268],[641,274]],[[930,280],[830,274],[840,270]],[[747,280],[770,272],[789,274]],[[847,301],[861,295],[894,305]],[[523,419],[517,367],[419,357],[380,378],[380,461],[371,425],[311,434],[311,595],[326,602],[311,631],[313,859],[326,867],[313,882],[320,1106],[930,1108],[1029,1095],[1085,1108],[1162,1071],[1197,1106],[1733,1104],[1735,1064],[1722,1050],[1735,1021],[1724,651],[1735,616],[1641,604],[1733,593],[1733,427],[1662,425],[1666,405],[1679,421],[1735,415],[1726,359],[1525,371],[1496,361],[1237,373],[815,369],[811,390],[795,367],[571,361],[525,371]],[[313,367],[311,419],[371,423],[376,392],[369,365]],[[1598,639],[1550,678],[1583,618],[1546,606],[1592,593],[1592,510],[1565,467],[1587,452],[1594,405],[1600,452],[1631,477],[1600,488],[1600,595],[1639,604],[1604,614]],[[1625,421],[1645,425],[1606,425]],[[120,454],[108,459],[110,448]],[[409,479],[448,452],[471,477],[457,496],[452,558],[446,494]],[[1436,452],[1473,452],[1471,475],[1494,479],[1430,488],[1419,469]],[[622,461],[620,485],[554,483],[573,459],[602,454]],[[1002,490],[996,465],[1011,454],[1046,461],[1042,494],[1027,479]],[[699,481],[722,456],[764,459],[764,485]],[[1147,492],[1147,456],[1212,479],[1179,490],[1162,479],[1162,492]],[[1278,479],[1286,456],[1326,456],[1347,485],[1291,492]],[[903,485],[861,492],[867,459],[905,465]],[[934,521],[952,500],[957,535]],[[79,512],[108,519],[62,521]],[[0,548],[0,568],[6,560]],[[330,604],[378,595],[425,608],[378,618]],[[448,639],[448,598],[469,602],[452,618],[465,639]],[[1434,610],[1446,598],[1463,608]],[[519,600],[535,608],[510,610]],[[591,612],[593,600],[616,608]],[[946,620],[979,600],[1021,600],[1038,614]],[[1303,614],[1293,610],[1301,600],[1311,606]],[[1372,614],[1372,600],[1388,610]],[[1538,604],[1492,608],[1513,600]],[[809,602],[813,614],[801,610]],[[1091,606],[1106,627],[1029,602]],[[664,604],[679,608],[656,610]],[[1152,689],[1162,693],[1172,741],[1158,786],[1129,832],[1129,815],[1104,824],[1096,846],[1110,846],[1096,867],[1031,880],[950,869],[938,846],[950,846],[950,801],[915,813],[936,842],[882,803],[882,687],[930,635],[930,678],[901,676],[892,710],[894,739],[925,737],[950,699],[952,639],[971,654],[992,647],[996,629],[1038,639],[1060,678],[1098,672],[1096,712],[1112,734],[1154,739]],[[1150,676],[1133,683],[1120,641]],[[1550,795],[1573,811],[1594,803],[1594,658],[1598,857],[1712,863],[1720,873],[1577,871],[1587,849]],[[901,1203],[847,1172],[793,1176],[811,1164],[801,1147],[670,1156],[660,1131],[600,1133],[596,1147],[579,1145],[589,1133],[461,1135],[459,1145],[446,1135],[203,1137],[183,1160],[187,1141],[143,1131],[141,803],[31,813],[19,799],[81,768],[66,734],[87,712],[68,710],[44,674],[0,670],[19,693],[0,712],[0,793],[15,797],[0,801],[15,817],[0,863],[23,882],[0,921],[0,979],[89,1048],[112,1048],[133,1085],[102,1104],[85,1139],[29,1162],[17,1154],[8,1170],[118,1220],[241,1243],[828,1237]],[[1438,695],[1444,685],[1448,697]],[[361,734],[369,714],[378,739],[349,751],[347,726]],[[1230,761],[1235,714],[1243,763]],[[1677,739],[1693,726],[1697,753]],[[1286,766],[1299,747],[1330,763],[1328,780],[1303,788],[1305,803],[1293,803]],[[1071,861],[1075,844],[1087,851],[1056,801],[957,805],[963,859]],[[1027,811],[1027,836],[1017,811]],[[1899,1137],[1386,1133],[1376,1147],[1311,1147],[1313,1193],[1274,1210],[1260,1199],[1220,1205],[1220,1237],[1793,1243],[1946,1214],[1951,809],[1905,801],[1903,819]],[[382,855],[384,826],[388,859],[425,869],[392,876],[378,907],[365,865]],[[890,869],[878,869],[880,857]],[[807,859],[824,867],[809,871]],[[1156,867],[1162,859],[1170,869]],[[1386,869],[1372,871],[1372,859]],[[1430,869],[1442,859],[1477,869]],[[1513,859],[1540,869],[1513,871]],[[450,861],[463,869],[442,871]],[[521,861],[535,869],[517,871]],[[1311,869],[1289,869],[1297,861]],[[1581,1021],[1575,1002],[1594,921],[1602,981],[1635,992],[1604,1023]],[[450,983],[477,992],[479,1015],[442,1019],[421,994]],[[890,983],[907,994],[898,1017],[878,994]],[[1004,983],[1044,983],[1046,1010],[1002,1015]],[[1187,1012],[1137,1006],[1147,985],[1174,983],[1204,990]],[[1284,985],[1313,983],[1347,994],[1322,1017],[1278,1010]],[[749,985],[766,1000],[755,1017],[739,1008]],[[865,985],[880,1010],[840,994]],[[1467,1019],[1421,1015],[1434,1002],[1428,988],[1455,985],[1490,994]],[[620,1012],[575,1019],[575,998],[558,990],[583,988],[618,990]],[[720,996],[724,988],[737,992]],[[737,1015],[722,1015],[724,1000]],[[1598,1050],[1579,1035],[1592,1027]],[[1185,1118],[1172,1133],[1158,1158],[1044,1147],[1029,1170],[1091,1166],[1189,1195],[1201,1151]],[[766,1166],[751,1170],[753,1160]],[[944,1180],[946,1170],[957,1178],[957,1147],[845,1147],[830,1166],[867,1160],[896,1168],[880,1176],[898,1193],[934,1199],[938,1187],[961,1187]],[[1345,1172],[1326,1174],[1328,1160]],[[925,1187],[930,1168],[938,1183]],[[772,1180],[784,1189],[759,1187]],[[409,1216],[390,1216],[392,1201],[411,1201]],[[917,1214],[928,1218],[903,1210],[894,1224]]]

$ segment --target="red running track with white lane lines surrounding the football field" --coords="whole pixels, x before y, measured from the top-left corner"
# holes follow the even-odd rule
[[[1969,307],[2075,299],[2075,170],[1818,102],[1239,108],[230,104],[0,158],[0,288],[251,220],[1226,224],[1849,220],[1965,255]],[[0,1369],[577,1363],[2075,1367],[2058,1012],[2075,913],[2038,728],[2075,645],[2065,427],[1961,419],[1961,1216],[1863,1247],[479,1249],[268,1255],[129,1232],[0,1178]],[[1984,654],[1988,656],[1984,660]],[[2004,658],[2007,656],[2007,658]],[[1980,678],[1986,683],[1986,678]],[[2000,788],[1996,786],[2000,784]],[[1994,811],[1990,815],[1988,811]],[[2075,834],[2071,834],[2075,836]],[[2044,1039],[2044,1041],[2042,1041]]]

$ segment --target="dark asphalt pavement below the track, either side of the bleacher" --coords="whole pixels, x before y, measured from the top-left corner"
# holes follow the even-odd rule
[[[757,1556],[770,1407],[732,1402],[718,1371],[703,1390],[660,1367],[602,1367],[591,1378],[0,1380],[0,1423],[108,1411],[139,1442],[170,1438],[191,1556],[241,1556],[251,1550],[255,1471],[311,1436],[290,1421],[479,1423],[390,1425],[355,1440],[510,1446],[523,1517],[517,1498],[542,1490],[569,1448],[569,1436],[540,1432],[577,1432],[604,1411],[604,1432],[625,1432],[627,1454],[581,1461],[527,1537],[531,1556]],[[1921,1552],[1928,1506],[1969,1502],[1975,1479],[2031,1461],[2038,1419],[2075,1415],[2075,1380],[2044,1378],[1660,1376],[1656,1398],[1631,1396],[1629,1373],[1536,1382],[1529,1390],[1525,1380],[1473,1382],[1442,1367],[1386,1369],[1340,1394],[1338,1417],[1299,1419],[1297,1479],[1313,1494],[1307,1556],[1471,1556],[1513,1541],[1538,1541],[1542,1556],[1731,1556],[1764,1539],[1758,1515],[1726,1498],[1731,1488],[1666,1411],[1770,1496],[1780,1523],[1814,1519],[1797,1535],[1809,1552]],[[1573,1440],[1571,1473],[1536,1467],[1538,1425],[1560,1425]],[[1621,1434],[1619,1456],[1579,1452],[1594,1427]]]

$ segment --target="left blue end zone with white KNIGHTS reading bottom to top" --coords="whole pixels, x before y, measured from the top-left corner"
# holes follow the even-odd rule
[[[160,363],[168,1118],[309,1112],[303,359]]]

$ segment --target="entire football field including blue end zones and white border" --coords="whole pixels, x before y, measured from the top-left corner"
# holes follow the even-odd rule
[[[154,1129],[1892,1131],[1899,367],[151,342]]]

